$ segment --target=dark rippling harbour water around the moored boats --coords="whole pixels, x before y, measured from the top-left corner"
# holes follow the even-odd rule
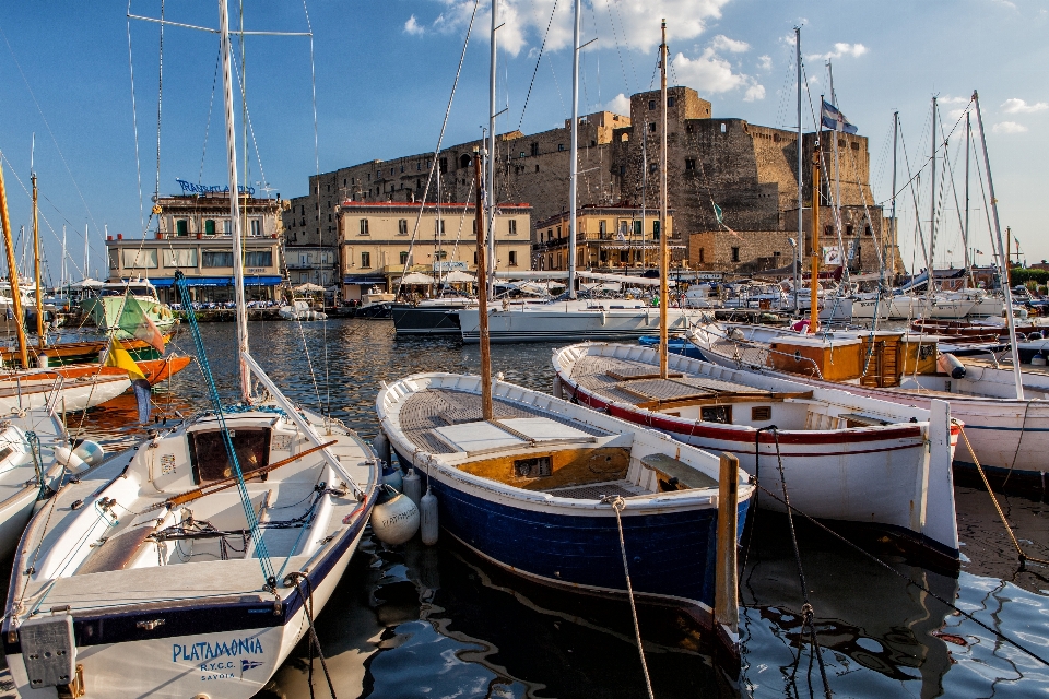
[[[476,345],[458,339],[398,340],[390,321],[252,322],[252,354],[285,393],[322,408],[365,438],[375,436],[379,381],[417,371],[478,372]],[[236,398],[233,323],[201,325],[219,389]],[[193,354],[185,331],[175,347]],[[304,351],[304,346],[306,350]],[[496,345],[493,371],[550,391],[557,345]],[[154,391],[156,412],[204,407],[190,366]],[[144,435],[123,396],[69,416],[71,431],[113,448]],[[789,484],[788,484],[789,485]],[[1049,667],[944,605],[950,600],[998,632],[1049,657],[1049,569],[1022,567],[986,491],[956,488],[964,564],[959,574],[927,570],[889,548],[892,570],[803,521],[800,558],[826,666],[841,697],[1030,697],[1049,691]],[[1000,496],[1033,556],[1049,558],[1042,501]],[[761,512],[741,576],[742,671],[727,676],[694,628],[667,611],[643,609],[640,631],[657,699],[823,696],[786,518]],[[627,542],[627,545],[629,543]],[[7,574],[10,561],[0,574]],[[919,583],[926,590],[908,584]],[[528,583],[441,540],[387,548],[365,537],[318,633],[335,694],[347,697],[644,697],[629,606]],[[305,643],[260,697],[309,697]],[[328,688],[314,663],[318,697]],[[8,696],[10,675],[2,678]]]

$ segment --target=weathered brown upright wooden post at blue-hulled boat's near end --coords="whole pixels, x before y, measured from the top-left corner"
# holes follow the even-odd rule
[[[718,483],[718,559],[715,571],[714,621],[718,636],[730,645],[739,643],[740,600],[736,579],[739,534],[740,460],[721,454]]]

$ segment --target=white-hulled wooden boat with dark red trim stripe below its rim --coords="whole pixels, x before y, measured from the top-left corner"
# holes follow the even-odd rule
[[[884,529],[952,565],[958,561],[946,403],[932,410],[814,388],[636,345],[587,343],[553,355],[554,393],[728,451],[778,484],[782,459],[791,503],[813,517]],[[778,427],[774,434],[773,426]],[[778,441],[778,445],[777,445]],[[762,507],[782,511],[770,498]]]

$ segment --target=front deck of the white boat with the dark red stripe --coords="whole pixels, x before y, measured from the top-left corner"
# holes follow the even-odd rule
[[[635,359],[582,355],[571,369],[571,379],[580,388],[603,399],[633,405],[651,402],[717,399],[726,396],[768,398],[762,391],[742,383],[671,371],[659,378],[659,367]]]

